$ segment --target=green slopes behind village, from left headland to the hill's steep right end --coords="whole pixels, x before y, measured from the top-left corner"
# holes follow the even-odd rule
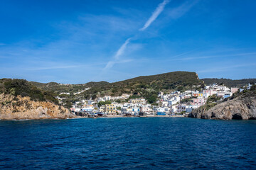
[[[106,81],[89,82],[87,84],[58,84],[48,83],[41,84],[32,82],[41,89],[53,91],[56,94],[68,92],[70,95],[65,96],[63,103],[70,103],[81,99],[95,99],[100,96],[121,96],[122,94],[130,94],[130,98],[145,98],[149,103],[157,100],[159,91],[169,93],[170,91],[187,89],[196,89],[196,86],[204,86],[203,81],[198,79],[195,72],[169,72],[165,74],[157,74],[153,76],[142,76],[134,79],[127,79],[114,83]],[[90,88],[86,91],[86,88]],[[78,91],[81,94],[74,95]],[[130,99],[129,98],[129,99]]]

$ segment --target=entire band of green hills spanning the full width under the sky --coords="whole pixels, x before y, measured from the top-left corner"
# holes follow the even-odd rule
[[[86,84],[47,84],[23,79],[0,79],[0,94],[12,94],[14,96],[29,96],[34,101],[53,101],[57,95],[62,98],[63,106],[70,107],[75,101],[101,96],[131,95],[130,98],[144,97],[149,103],[154,103],[159,91],[169,93],[171,91],[186,91],[200,89],[205,84],[225,84],[225,86],[244,86],[256,79],[198,79],[196,72],[169,72],[151,76],[135,77],[124,81],[108,83],[107,81],[89,82]],[[80,93],[78,93],[80,92]],[[69,93],[60,94],[60,93]]]

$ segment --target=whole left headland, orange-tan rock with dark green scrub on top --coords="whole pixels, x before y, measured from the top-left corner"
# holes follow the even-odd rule
[[[55,94],[24,79],[0,79],[0,119],[75,118]]]

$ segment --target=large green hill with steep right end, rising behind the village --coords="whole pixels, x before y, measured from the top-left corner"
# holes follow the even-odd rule
[[[133,97],[143,96],[149,101],[151,96],[156,96],[159,91],[169,92],[174,90],[184,91],[194,85],[203,85],[195,72],[169,72],[152,76],[142,76],[124,81],[117,81],[102,86],[92,86],[82,93],[85,98],[97,96],[121,96],[132,94]]]

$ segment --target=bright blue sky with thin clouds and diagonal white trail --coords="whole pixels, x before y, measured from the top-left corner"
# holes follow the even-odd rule
[[[256,1],[0,1],[0,78],[256,78]]]

